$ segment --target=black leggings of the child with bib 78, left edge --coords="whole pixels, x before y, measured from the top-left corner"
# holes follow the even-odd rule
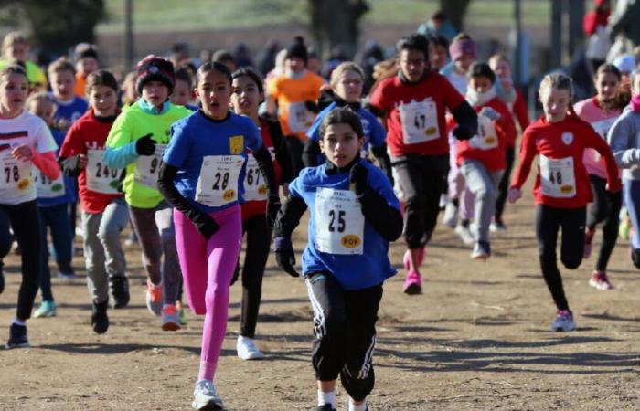
[[[25,321],[31,317],[37,290],[40,288],[42,271],[42,230],[40,229],[40,213],[36,201],[28,201],[18,205],[0,205],[0,220],[9,221],[20,247],[22,259],[22,282],[17,294],[16,317]],[[0,250],[11,248],[11,238],[0,236]]]

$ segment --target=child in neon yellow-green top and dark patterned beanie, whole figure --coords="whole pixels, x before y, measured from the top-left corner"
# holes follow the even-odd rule
[[[124,199],[143,251],[146,306],[162,315],[163,330],[175,331],[180,328],[176,310],[180,265],[171,205],[157,190],[156,181],[171,124],[191,111],[169,102],[174,87],[174,66],[169,60],[147,56],[137,69],[141,98],[113,123],[104,162],[109,168],[126,167]]]

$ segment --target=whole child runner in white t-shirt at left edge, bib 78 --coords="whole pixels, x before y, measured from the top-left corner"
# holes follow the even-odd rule
[[[58,147],[47,124],[24,110],[28,90],[24,68],[7,66],[0,70],[0,220],[10,222],[22,251],[22,282],[6,348],[29,345],[27,319],[40,285],[44,239],[32,164],[51,180],[60,174],[55,153]]]

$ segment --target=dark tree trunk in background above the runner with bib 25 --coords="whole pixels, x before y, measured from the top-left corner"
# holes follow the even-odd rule
[[[341,47],[353,56],[360,34],[360,19],[368,10],[366,0],[309,0],[315,41],[322,48]]]

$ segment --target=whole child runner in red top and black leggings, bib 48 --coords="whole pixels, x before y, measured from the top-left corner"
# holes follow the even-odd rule
[[[520,162],[508,200],[515,203],[522,196],[520,189],[539,155],[533,194],[540,266],[558,308],[551,330],[572,331],[576,324],[562,287],[556,244],[561,228],[560,260],[567,269],[577,269],[584,253],[586,205],[592,200],[589,175],[582,163],[585,148],[593,148],[603,156],[610,192],[620,191],[621,183],[609,146],[573,112],[571,79],[562,74],[547,75],[540,84],[539,98],[544,116],[528,126],[522,136]]]

